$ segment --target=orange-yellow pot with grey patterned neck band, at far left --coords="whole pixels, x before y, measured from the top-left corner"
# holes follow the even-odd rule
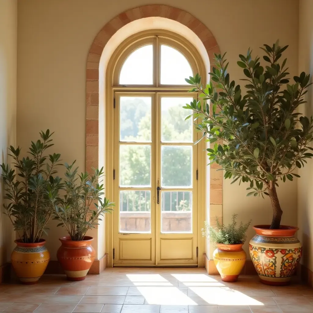
[[[46,241],[23,243],[15,240],[16,247],[11,254],[13,269],[23,284],[36,284],[44,274],[50,260],[50,254],[44,246]]]

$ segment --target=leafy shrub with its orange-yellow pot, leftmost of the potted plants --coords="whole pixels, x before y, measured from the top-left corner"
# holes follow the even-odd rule
[[[61,179],[54,177],[60,154],[46,155],[53,146],[49,129],[41,131],[41,140],[32,141],[30,157],[20,157],[21,149],[10,146],[16,170],[4,163],[1,165],[5,184],[5,212],[18,234],[16,248],[11,254],[12,266],[24,284],[34,284],[44,274],[50,255],[41,238],[47,231],[47,223],[54,212],[54,203],[59,202]]]

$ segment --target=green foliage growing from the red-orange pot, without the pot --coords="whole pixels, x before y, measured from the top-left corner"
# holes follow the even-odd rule
[[[108,199],[103,198],[104,187],[101,178],[103,167],[96,169],[94,175],[88,172],[77,174],[78,167],[74,168],[65,163],[65,185],[66,192],[61,203],[55,203],[55,217],[59,220],[57,226],[65,227],[72,240],[84,240],[87,231],[98,225],[106,212],[110,212],[114,206]],[[51,199],[53,201],[53,199]]]

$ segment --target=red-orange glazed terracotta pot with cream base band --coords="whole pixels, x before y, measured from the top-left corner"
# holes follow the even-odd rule
[[[91,246],[92,237],[74,241],[70,236],[61,237],[61,247],[57,258],[68,280],[84,280],[95,259],[95,249]]]

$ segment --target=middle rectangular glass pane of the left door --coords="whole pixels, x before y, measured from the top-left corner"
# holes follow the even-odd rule
[[[150,145],[120,145],[120,186],[151,187]]]

